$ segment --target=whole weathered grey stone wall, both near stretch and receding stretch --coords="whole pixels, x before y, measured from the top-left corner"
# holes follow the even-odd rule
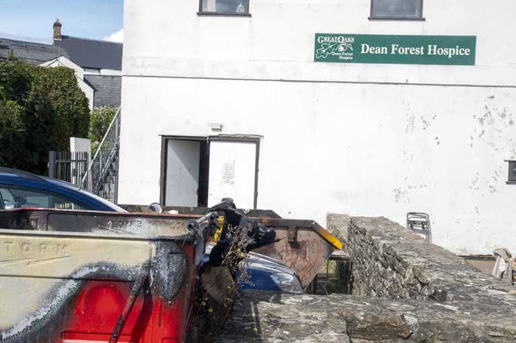
[[[246,292],[217,342],[516,342],[515,290],[457,255],[384,217],[344,249],[354,295]]]

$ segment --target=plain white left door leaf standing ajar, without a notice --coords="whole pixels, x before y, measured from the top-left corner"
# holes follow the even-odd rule
[[[197,206],[200,142],[169,139],[165,205]]]

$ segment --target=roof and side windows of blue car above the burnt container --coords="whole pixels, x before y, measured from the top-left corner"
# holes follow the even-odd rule
[[[68,182],[0,167],[0,209],[27,207],[126,212]]]

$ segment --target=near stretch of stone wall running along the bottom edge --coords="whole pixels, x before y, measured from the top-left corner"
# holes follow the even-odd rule
[[[515,342],[511,304],[245,292],[215,342]]]

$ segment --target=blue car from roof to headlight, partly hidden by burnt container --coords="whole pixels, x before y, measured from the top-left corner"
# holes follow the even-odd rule
[[[19,208],[127,212],[121,207],[79,189],[68,182],[36,176],[17,169],[0,167],[0,210]],[[205,261],[209,259],[211,248],[213,246],[207,247],[204,254]],[[303,292],[294,270],[275,259],[249,252],[248,258],[241,264],[241,268],[246,268],[250,278],[249,282],[239,285],[239,289],[261,289],[289,293]]]

